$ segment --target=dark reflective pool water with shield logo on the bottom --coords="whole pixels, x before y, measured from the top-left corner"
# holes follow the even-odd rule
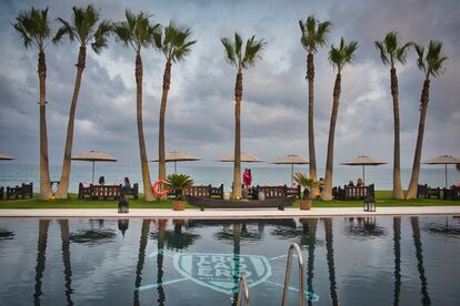
[[[460,305],[460,218],[0,218],[0,305]],[[293,258],[288,305],[298,305]],[[234,304],[234,303],[233,303]]]

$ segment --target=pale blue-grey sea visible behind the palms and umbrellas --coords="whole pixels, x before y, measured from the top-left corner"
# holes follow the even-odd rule
[[[242,164],[251,169],[252,185],[291,185],[290,165],[262,165]],[[16,186],[22,183],[33,183],[33,190],[39,191],[39,166],[33,164],[20,164],[14,162],[0,163],[0,186]],[[70,192],[78,192],[79,182],[91,183],[92,163],[72,164],[70,177]],[[230,164],[197,165],[196,163],[178,163],[177,172],[190,175],[196,185],[220,185],[230,191],[233,180],[233,169]],[[308,166],[294,166],[294,172],[309,173]],[[167,173],[174,173],[173,164],[168,164]],[[444,166],[424,166],[420,172],[420,184],[431,187],[443,187],[446,185]],[[61,174],[60,165],[50,166],[51,181],[59,181]],[[318,176],[324,174],[323,169],[318,170]],[[119,163],[96,163],[94,182],[99,176],[104,176],[106,184],[122,184],[124,177],[129,177],[131,184],[139,183],[140,192],[143,192],[142,176],[139,165],[123,165]],[[158,167],[150,167],[152,183],[158,176]],[[401,169],[402,187],[406,190],[411,176],[410,169]],[[354,183],[362,177],[361,166],[339,165],[333,170],[333,185],[348,184],[350,180]],[[448,166],[448,186],[460,181],[460,171],[454,166]],[[376,190],[392,190],[392,169],[382,166],[366,166],[366,184],[374,184]],[[57,184],[53,185],[56,191]]]

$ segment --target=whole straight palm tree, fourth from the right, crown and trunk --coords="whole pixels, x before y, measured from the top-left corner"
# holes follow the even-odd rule
[[[320,22],[310,16],[303,22],[299,20],[302,37],[300,42],[307,51],[307,79],[308,79],[308,152],[310,160],[310,178],[317,181],[317,157],[314,153],[314,130],[313,130],[313,82],[314,82],[314,64],[313,54],[318,52],[320,47],[326,45],[328,33],[332,27],[330,21]],[[319,195],[319,187],[311,190],[313,196]]]

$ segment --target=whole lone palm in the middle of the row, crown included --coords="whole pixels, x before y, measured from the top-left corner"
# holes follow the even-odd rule
[[[247,40],[243,49],[243,41],[239,33],[234,33],[234,41],[222,38],[221,42],[226,49],[226,60],[237,68],[237,82],[234,85],[234,164],[233,164],[233,192],[232,198],[241,198],[241,133],[240,113],[242,101],[242,71],[256,65],[260,53],[266,47],[263,40],[256,40],[251,37]],[[244,50],[244,51],[243,51]]]

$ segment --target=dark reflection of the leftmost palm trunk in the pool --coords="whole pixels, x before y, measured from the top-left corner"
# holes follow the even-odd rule
[[[39,237],[37,245],[37,266],[36,266],[36,290],[33,294],[33,304],[40,305],[41,292],[41,277],[43,277],[44,263],[46,263],[46,253],[47,253],[47,239],[48,239],[48,228],[50,226],[49,220],[39,221]]]

